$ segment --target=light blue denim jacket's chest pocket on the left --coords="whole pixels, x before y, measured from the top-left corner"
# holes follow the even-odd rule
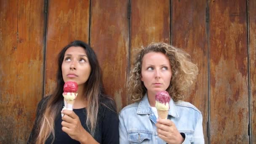
[[[152,132],[151,131],[130,131],[128,132],[128,140],[131,144],[149,144],[149,140],[151,139]]]

